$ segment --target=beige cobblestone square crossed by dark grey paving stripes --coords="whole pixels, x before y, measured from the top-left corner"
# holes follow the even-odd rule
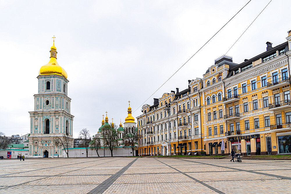
[[[0,193],[290,193],[291,161],[0,160]]]

